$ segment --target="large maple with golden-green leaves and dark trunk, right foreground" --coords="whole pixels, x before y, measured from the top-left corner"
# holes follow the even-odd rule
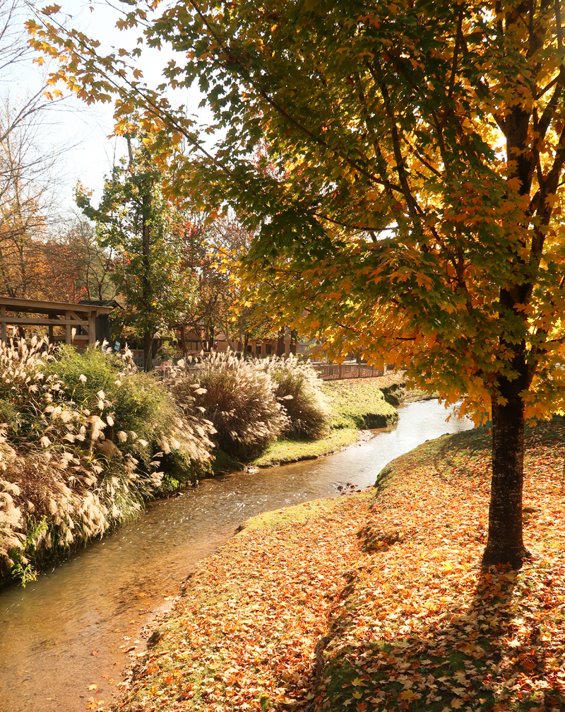
[[[120,26],[180,53],[164,74],[207,95],[223,132],[213,155],[164,86],[144,84],[138,49],[99,56],[51,17],[58,6],[28,29],[60,59],[53,83],[155,125],[177,193],[198,186],[258,229],[246,263],[287,323],[338,354],[408,365],[462,412],[492,417],[482,560],[521,565],[524,420],[564,399],[559,1],[156,9],[131,4]]]

